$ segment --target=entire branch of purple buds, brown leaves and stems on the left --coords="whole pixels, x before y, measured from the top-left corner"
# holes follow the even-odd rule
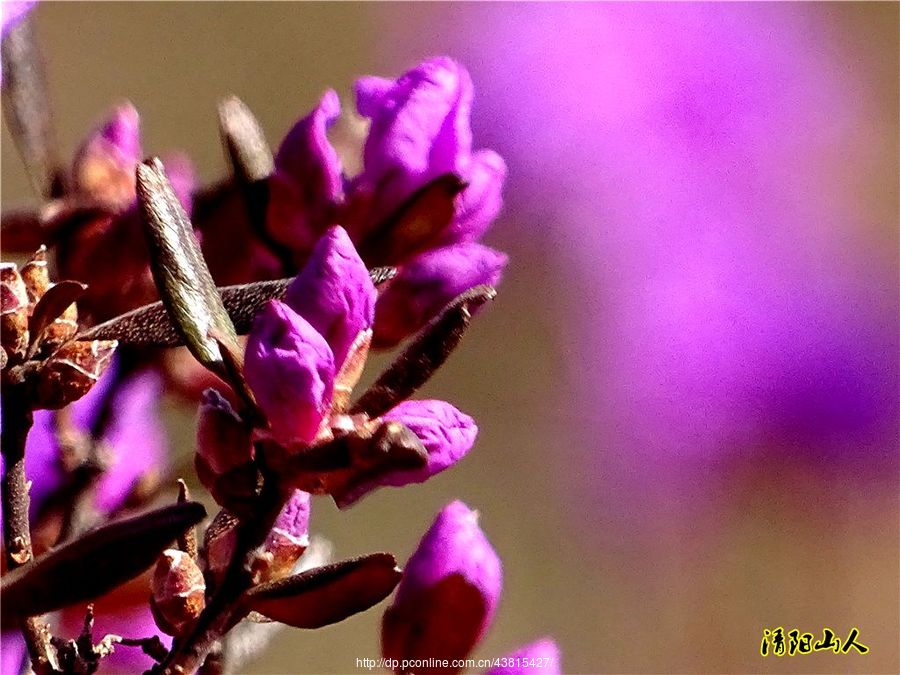
[[[4,33],[19,14],[4,5]],[[21,69],[34,64],[7,66],[10,82],[28,86]],[[22,629],[3,636],[4,672],[21,669],[26,646],[38,673],[149,665],[122,660],[123,645],[141,646],[153,672],[215,670],[254,623],[318,628],[395,589],[382,643],[397,672],[475,648],[502,572],[461,502],[439,514],[405,571],[389,553],[323,564],[307,552],[314,496],[349,508],[428,480],[475,442],[470,416],[412,397],[494,297],[507,262],[478,243],[500,210],[506,167],[473,149],[472,95],[449,58],[359,80],[368,133],[356,176],[328,140],[340,115],[333,91],[274,156],[230,100],[220,127],[234,175],[199,191],[179,156],[167,168],[142,161],[138,113],[122,104],[66,168],[44,167],[47,202],[19,219],[27,227],[4,215],[17,246],[50,244],[21,270],[2,267],[4,627]],[[370,349],[401,342],[355,394]],[[195,362],[157,356],[182,345]],[[156,404],[161,385],[179,381],[203,390],[194,466],[220,510],[202,535],[204,510],[184,482],[177,504],[147,511],[166,464]],[[143,513],[105,524],[134,510]],[[149,585],[148,604],[135,602],[135,585],[142,599]],[[96,624],[85,602],[96,603]],[[77,638],[51,635],[41,616],[57,610],[54,630]],[[96,642],[116,617],[142,635]],[[171,642],[145,637],[151,617]],[[107,660],[117,645],[119,660]],[[559,671],[552,641],[519,653]],[[527,660],[517,659],[491,672],[518,672],[504,670]]]

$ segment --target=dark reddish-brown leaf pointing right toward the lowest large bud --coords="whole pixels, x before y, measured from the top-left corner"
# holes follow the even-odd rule
[[[261,584],[247,592],[244,604],[295,628],[321,628],[378,604],[401,576],[394,556],[373,553]]]

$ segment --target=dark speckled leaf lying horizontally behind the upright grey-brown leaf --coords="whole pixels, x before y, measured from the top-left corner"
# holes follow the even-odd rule
[[[396,274],[393,267],[376,267],[369,271],[377,286]],[[238,335],[246,335],[253,327],[253,318],[269,300],[281,300],[293,279],[257,281],[251,284],[223,286],[218,289],[225,310],[234,323]],[[184,340],[172,325],[162,302],[154,302],[133,309],[81,333],[78,340],[119,340],[123,344],[147,347],[178,347]]]

